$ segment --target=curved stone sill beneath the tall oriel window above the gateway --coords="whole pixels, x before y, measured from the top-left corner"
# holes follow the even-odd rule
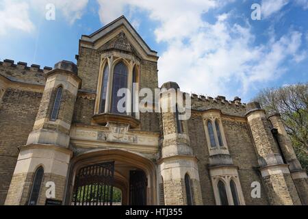
[[[94,115],[93,120],[99,125],[105,125],[107,122],[124,123],[136,128],[140,125],[140,121],[133,116],[119,115],[119,114],[97,114]]]

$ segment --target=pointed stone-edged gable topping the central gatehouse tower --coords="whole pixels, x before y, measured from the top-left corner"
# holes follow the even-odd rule
[[[120,16],[89,36],[82,36],[79,47],[108,50],[117,49],[138,53],[144,60],[157,62],[157,52],[150,49],[125,16]]]

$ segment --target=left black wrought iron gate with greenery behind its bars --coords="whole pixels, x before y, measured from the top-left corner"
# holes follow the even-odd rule
[[[112,205],[114,162],[85,166],[75,177],[72,205]]]

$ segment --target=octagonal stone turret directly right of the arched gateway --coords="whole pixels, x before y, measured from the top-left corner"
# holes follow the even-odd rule
[[[160,99],[161,106],[168,101],[175,101],[175,92],[170,93],[169,89],[177,90],[177,83],[164,83]],[[180,92],[177,90],[177,92]],[[169,95],[168,95],[169,93]],[[181,98],[183,94],[181,93]],[[162,158],[159,161],[160,177],[164,181],[164,202],[165,205],[187,205],[185,175],[190,177],[192,204],[203,205],[201,197],[201,186],[198,175],[197,159],[192,153],[186,120],[177,120],[175,109],[172,104],[162,109],[162,123],[164,129],[164,140],[162,143]],[[181,131],[177,129],[181,125]]]

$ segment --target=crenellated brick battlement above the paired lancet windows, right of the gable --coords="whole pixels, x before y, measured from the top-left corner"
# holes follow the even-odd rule
[[[203,96],[198,94],[190,94],[192,100],[192,110],[204,111],[209,109],[221,110],[223,114],[231,116],[245,116],[246,103],[242,103],[238,96],[233,101],[228,101],[225,96]]]

